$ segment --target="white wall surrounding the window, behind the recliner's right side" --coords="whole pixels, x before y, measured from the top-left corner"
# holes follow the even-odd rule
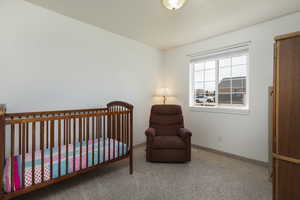
[[[299,31],[300,13],[165,52],[167,87],[176,94],[170,102],[183,105],[192,143],[216,150],[268,161],[268,86],[272,85],[273,38]],[[189,57],[187,54],[251,41],[250,113],[248,115],[189,110]]]

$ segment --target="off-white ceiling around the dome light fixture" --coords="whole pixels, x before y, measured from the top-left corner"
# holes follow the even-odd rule
[[[300,0],[27,0],[113,33],[169,49],[300,10]]]

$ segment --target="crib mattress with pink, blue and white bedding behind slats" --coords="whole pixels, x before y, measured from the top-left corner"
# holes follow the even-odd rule
[[[110,143],[110,145],[109,145]],[[113,145],[115,143],[115,145]],[[91,167],[93,164],[93,140],[88,142],[88,154],[86,154],[86,142],[82,142],[82,162],[81,169],[85,169],[87,166],[86,156],[88,156],[88,167]],[[104,146],[105,144],[105,146]],[[118,145],[119,144],[119,145]],[[94,140],[94,164],[102,163],[107,160],[112,160],[118,156],[123,156],[127,153],[127,145],[117,140],[110,139],[100,139],[100,151],[98,151],[98,139]],[[66,159],[66,147],[68,146],[68,159]],[[73,144],[64,145],[61,148],[61,176],[66,175],[66,160],[68,160],[68,173],[72,173],[74,170],[73,167]],[[115,151],[114,151],[115,148]],[[109,149],[110,149],[110,158],[109,158]],[[59,149],[58,147],[53,148],[53,171],[52,177],[59,177]],[[105,152],[105,156],[104,156]],[[115,152],[115,155],[113,154]],[[98,153],[100,153],[100,160],[98,162]],[[35,152],[35,164],[34,171],[34,182],[35,184],[41,183],[42,181],[42,168],[41,168],[41,154],[42,151]],[[105,158],[104,158],[105,157]],[[13,183],[11,183],[11,159],[13,159]],[[75,171],[80,170],[80,142],[75,144]],[[25,187],[32,185],[32,153],[25,154]],[[45,149],[44,151],[44,181],[50,180],[50,149]],[[13,191],[19,190],[22,188],[22,155],[17,155],[8,157],[5,159],[5,168],[4,168],[4,191],[11,191],[11,184],[13,184]]]

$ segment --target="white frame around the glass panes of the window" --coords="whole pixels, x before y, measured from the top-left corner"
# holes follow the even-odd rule
[[[246,69],[246,94],[245,94],[245,105],[244,106],[235,106],[233,104],[228,104],[228,106],[221,106],[218,105],[218,82],[219,82],[219,60],[224,58],[232,58],[237,56],[247,56],[247,69]],[[194,64],[200,63],[200,62],[207,62],[214,60],[216,61],[215,64],[215,76],[216,76],[216,90],[215,90],[215,98],[216,98],[216,105],[200,105],[195,104],[195,70],[194,70]],[[231,65],[232,68],[232,65]],[[250,105],[250,44],[243,44],[238,45],[236,47],[228,47],[223,48],[221,50],[213,50],[211,53],[206,52],[201,55],[192,56],[192,59],[190,60],[189,64],[189,107],[191,111],[204,111],[204,112],[221,112],[221,113],[232,113],[232,114],[248,114],[250,112],[249,105]],[[204,80],[205,81],[205,80]],[[232,90],[232,86],[231,86]],[[232,91],[231,91],[232,95]],[[232,103],[232,102],[231,102]]]

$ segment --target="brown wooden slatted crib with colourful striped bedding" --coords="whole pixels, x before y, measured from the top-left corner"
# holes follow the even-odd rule
[[[30,113],[0,110],[0,199],[10,199],[129,157],[133,106]]]

